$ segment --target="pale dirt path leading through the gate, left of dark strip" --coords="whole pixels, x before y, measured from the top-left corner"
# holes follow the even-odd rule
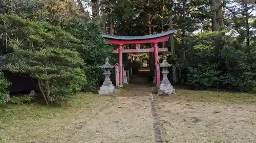
[[[140,73],[141,74],[141,73]],[[154,142],[151,83],[134,78],[117,97],[87,122],[68,142]],[[81,139],[83,138],[83,139]]]

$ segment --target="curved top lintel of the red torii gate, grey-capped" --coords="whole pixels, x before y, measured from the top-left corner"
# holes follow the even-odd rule
[[[110,34],[101,34],[102,37],[107,38],[111,44],[140,44],[140,43],[158,43],[164,42],[169,37],[175,34],[174,31],[167,31],[159,34],[146,36],[115,36]]]

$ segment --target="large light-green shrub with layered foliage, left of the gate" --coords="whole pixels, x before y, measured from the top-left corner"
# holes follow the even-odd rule
[[[77,49],[79,39],[48,22],[0,14],[0,27],[9,35],[12,52],[2,55],[3,68],[13,73],[29,73],[37,79],[46,103],[66,100],[87,82],[83,59]],[[18,35],[16,34],[18,33]]]

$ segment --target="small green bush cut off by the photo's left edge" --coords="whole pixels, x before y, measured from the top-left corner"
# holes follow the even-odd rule
[[[9,94],[10,82],[5,78],[4,72],[0,72],[0,104],[6,103],[6,95]]]

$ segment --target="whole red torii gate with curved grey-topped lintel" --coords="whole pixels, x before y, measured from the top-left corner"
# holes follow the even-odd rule
[[[158,52],[168,51],[168,48],[158,48],[157,44],[159,42],[164,42],[169,39],[169,37],[174,35],[174,31],[167,31],[154,35],[146,35],[146,36],[114,36],[110,34],[101,34],[102,37],[109,40],[111,44],[118,44],[119,48],[113,50],[112,53],[118,53],[118,64],[119,64],[119,83],[122,84],[122,59],[123,53],[134,53],[134,52],[154,52],[155,58],[155,70],[156,70],[156,83],[157,86],[160,85],[160,70],[158,66]],[[139,44],[141,43],[153,43],[153,48],[140,49]],[[123,49],[123,44],[135,44],[135,49]]]

